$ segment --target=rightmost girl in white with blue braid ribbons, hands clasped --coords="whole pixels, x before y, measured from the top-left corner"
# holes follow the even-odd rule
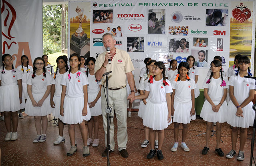
[[[231,100],[228,103],[227,122],[232,126],[232,150],[226,157],[233,158],[236,155],[236,142],[238,129],[240,129],[240,147],[237,160],[244,160],[243,151],[247,139],[247,128],[253,126],[255,114],[252,109],[255,80],[244,78],[244,76],[252,76],[250,73],[250,59],[247,56],[241,56],[238,59],[238,72],[231,76],[228,81]]]

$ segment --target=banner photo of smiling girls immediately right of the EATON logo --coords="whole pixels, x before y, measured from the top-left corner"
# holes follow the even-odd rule
[[[187,38],[169,38],[169,52],[189,53],[189,41]]]

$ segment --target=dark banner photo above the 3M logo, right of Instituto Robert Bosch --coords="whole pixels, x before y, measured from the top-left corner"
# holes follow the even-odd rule
[[[206,26],[226,26],[228,9],[206,9]]]

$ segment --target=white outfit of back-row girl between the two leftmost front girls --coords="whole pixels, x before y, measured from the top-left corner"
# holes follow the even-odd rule
[[[20,109],[24,109],[26,106],[25,99],[28,98],[28,90],[27,90],[27,80],[30,73],[33,72],[32,66],[25,67],[20,65],[17,67],[17,70],[20,72],[22,76],[22,103],[20,104]]]

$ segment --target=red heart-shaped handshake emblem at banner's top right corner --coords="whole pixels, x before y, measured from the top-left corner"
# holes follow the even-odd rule
[[[240,23],[248,20],[251,15],[251,10],[248,9],[242,2],[232,10],[232,16]]]

